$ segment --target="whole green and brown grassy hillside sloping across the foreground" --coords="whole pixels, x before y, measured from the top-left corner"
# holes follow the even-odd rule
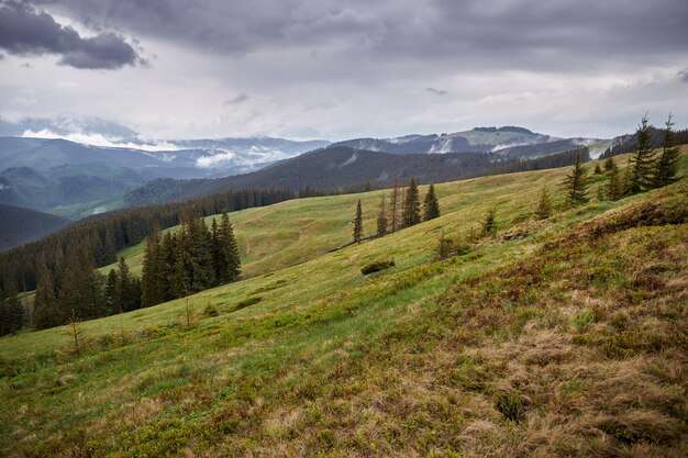
[[[263,266],[244,245],[255,277],[84,323],[80,357],[65,327],[0,339],[0,449],[685,456],[688,183],[533,221],[565,172],[442,185],[440,219],[301,264],[348,239],[358,198],[371,232],[379,194],[240,212],[237,233],[287,234]],[[495,205],[497,236],[433,261],[442,231],[466,236]],[[299,241],[318,214],[332,227]]]

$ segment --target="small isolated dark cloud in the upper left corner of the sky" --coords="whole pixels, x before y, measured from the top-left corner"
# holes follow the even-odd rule
[[[22,56],[55,54],[59,64],[75,68],[116,69],[143,63],[120,35],[82,37],[52,15],[12,1],[0,2],[0,48]]]

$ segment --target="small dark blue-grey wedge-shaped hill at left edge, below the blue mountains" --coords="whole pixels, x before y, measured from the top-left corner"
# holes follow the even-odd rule
[[[0,252],[36,241],[69,223],[52,214],[0,204]]]

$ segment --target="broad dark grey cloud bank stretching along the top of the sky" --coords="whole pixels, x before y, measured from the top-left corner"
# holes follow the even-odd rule
[[[566,69],[684,53],[685,0],[40,0],[95,25],[221,53],[320,48],[373,58]]]

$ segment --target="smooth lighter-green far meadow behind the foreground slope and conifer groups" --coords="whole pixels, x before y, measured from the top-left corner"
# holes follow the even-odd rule
[[[510,209],[502,209],[502,215],[515,217],[518,214],[519,217],[524,217],[534,209],[542,185],[557,183],[566,172],[566,169],[553,169],[534,175],[500,175],[440,183],[435,188],[445,213],[467,208],[485,211],[487,206],[481,204],[489,201],[489,205],[509,204]],[[598,185],[599,182],[595,186]],[[421,196],[425,194],[426,188],[420,187]],[[293,266],[349,243],[351,222],[358,199],[362,200],[364,210],[364,235],[374,235],[381,196],[386,194],[389,203],[388,193],[389,191],[371,191],[300,199],[233,212],[230,217],[240,243],[244,277]],[[595,189],[591,194],[593,193]],[[518,196],[523,199],[518,199]],[[219,219],[209,216],[206,219],[208,224],[213,217]],[[478,222],[481,215],[473,214],[471,217]],[[175,230],[173,227],[169,231]],[[132,271],[140,275],[144,248],[145,242],[124,249],[118,257],[123,256]],[[102,267],[100,271],[107,273],[115,267],[116,262]]]

